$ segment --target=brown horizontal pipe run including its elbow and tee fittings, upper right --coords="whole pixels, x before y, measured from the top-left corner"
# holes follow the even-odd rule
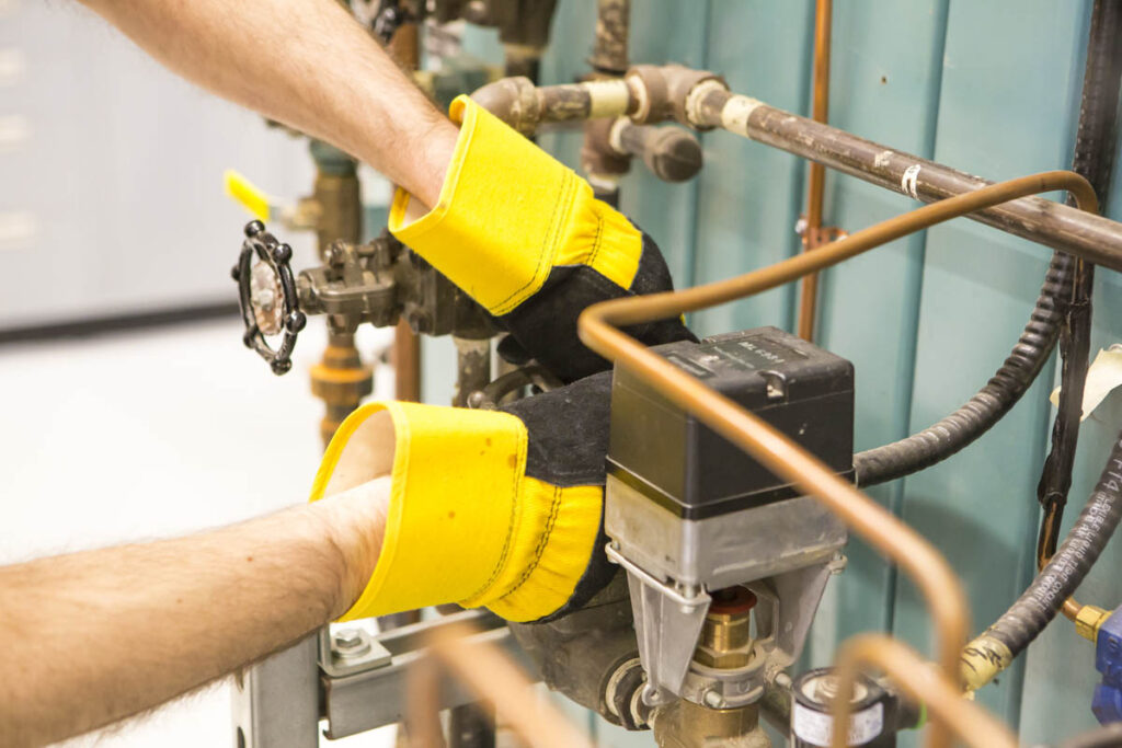
[[[681,65],[637,65],[623,80],[540,89],[525,79],[504,79],[472,98],[523,132],[546,122],[624,114],[641,124],[675,120],[699,130],[723,128],[926,203],[993,184],[734,94],[718,75]],[[968,218],[1122,271],[1122,223],[1101,215],[1026,197]]]

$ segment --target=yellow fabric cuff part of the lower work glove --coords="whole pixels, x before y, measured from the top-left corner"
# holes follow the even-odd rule
[[[524,474],[527,435],[517,417],[412,403],[373,403],[335,432],[312,488],[368,459],[364,424],[394,422],[386,533],[370,581],[340,620],[445,602],[489,606],[534,620],[572,594],[591,556],[603,491],[557,488]]]

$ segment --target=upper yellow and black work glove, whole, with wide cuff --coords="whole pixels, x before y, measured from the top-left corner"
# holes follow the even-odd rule
[[[468,293],[530,355],[573,381],[608,368],[577,338],[596,302],[673,287],[654,241],[592,188],[467,96],[439,204],[398,190],[389,230]],[[680,320],[628,327],[647,345],[693,340]]]

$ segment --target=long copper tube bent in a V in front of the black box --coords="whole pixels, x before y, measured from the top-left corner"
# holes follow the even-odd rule
[[[1084,210],[1097,210],[1091,185],[1074,172],[1045,172],[990,185],[904,213],[753,273],[680,292],[631,296],[595,304],[581,314],[581,340],[594,351],[656,388],[717,433],[738,445],[776,475],[822,501],[912,579],[935,621],[938,663],[948,681],[960,683],[959,652],[969,630],[969,608],[962,584],[946,558],[922,536],[790,438],[730,399],[709,389],[618,327],[693,312],[757,294],[795,280],[894,239],[1026,195],[1068,190]],[[932,746],[945,746],[942,726],[931,730]]]

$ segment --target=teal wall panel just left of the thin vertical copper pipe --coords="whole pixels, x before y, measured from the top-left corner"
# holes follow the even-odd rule
[[[710,0],[706,67],[734,91],[794,112],[808,108],[813,3]],[[698,177],[695,281],[746,273],[799,249],[804,167],[798,158],[724,132],[705,136]],[[793,294],[778,288],[696,313],[702,335],[762,324],[790,329]]]

